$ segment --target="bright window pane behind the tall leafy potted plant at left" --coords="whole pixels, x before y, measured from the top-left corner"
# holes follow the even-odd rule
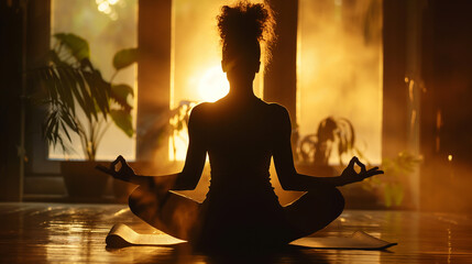
[[[51,26],[52,34],[74,33],[87,40],[91,63],[103,79],[110,80],[114,75],[112,58],[116,52],[138,46],[138,0],[53,0]],[[136,66],[120,70],[112,84],[127,84],[136,94]],[[133,100],[134,125],[136,101]],[[85,116],[81,120],[86,120]],[[50,147],[50,158],[85,158],[80,140],[75,134],[72,150],[65,155],[61,147]],[[128,138],[110,122],[98,146],[97,160],[111,160],[118,154],[134,160],[135,139]]]

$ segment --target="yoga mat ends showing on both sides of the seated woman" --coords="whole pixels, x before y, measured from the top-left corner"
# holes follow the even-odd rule
[[[176,245],[186,243],[165,233],[141,234],[123,223],[114,224],[106,239],[110,248],[123,248],[129,245]],[[311,249],[336,249],[336,250],[384,250],[397,243],[391,243],[376,239],[362,231],[354,232],[348,238],[301,238],[290,243],[292,245]]]

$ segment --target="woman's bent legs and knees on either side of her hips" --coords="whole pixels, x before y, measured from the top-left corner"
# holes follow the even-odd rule
[[[193,241],[199,238],[204,227],[205,204],[169,190],[138,187],[129,198],[131,211],[154,228],[175,238]],[[289,242],[327,227],[344,208],[344,198],[334,188],[307,191],[299,199],[283,208],[281,221],[286,232],[279,232],[281,241]],[[278,230],[274,230],[277,233]]]

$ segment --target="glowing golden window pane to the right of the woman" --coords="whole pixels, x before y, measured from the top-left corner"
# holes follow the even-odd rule
[[[382,54],[382,0],[299,1],[300,136],[316,133],[323,118],[347,118],[356,146],[381,162]]]

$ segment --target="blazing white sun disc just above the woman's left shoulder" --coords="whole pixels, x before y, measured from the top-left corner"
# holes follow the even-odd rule
[[[229,91],[230,85],[219,66],[207,69],[198,82],[198,94],[202,101],[215,102]]]

